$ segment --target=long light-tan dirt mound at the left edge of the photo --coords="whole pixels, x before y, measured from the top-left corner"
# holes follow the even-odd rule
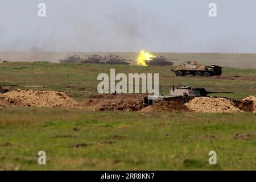
[[[75,107],[78,104],[62,92],[13,90],[0,94],[0,106]]]

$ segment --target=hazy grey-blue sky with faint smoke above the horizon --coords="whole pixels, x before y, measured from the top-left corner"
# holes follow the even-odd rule
[[[38,17],[40,2],[46,18]],[[256,52],[255,0],[0,3],[0,51]]]

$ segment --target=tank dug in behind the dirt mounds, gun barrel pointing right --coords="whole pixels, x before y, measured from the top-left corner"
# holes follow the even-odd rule
[[[182,101],[188,102],[195,97],[207,97],[210,93],[233,93],[233,92],[207,92],[205,88],[192,88],[181,86],[170,90],[168,96],[147,96],[143,98],[144,106],[152,105],[160,101]]]

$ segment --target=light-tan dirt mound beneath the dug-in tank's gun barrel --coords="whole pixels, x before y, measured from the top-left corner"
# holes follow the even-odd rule
[[[237,113],[241,112],[227,98],[196,97],[185,104],[191,111],[199,113]]]

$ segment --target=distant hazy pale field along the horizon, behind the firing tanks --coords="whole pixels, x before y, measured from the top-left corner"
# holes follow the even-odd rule
[[[150,52],[150,50],[146,50]],[[168,59],[175,59],[174,64],[178,65],[185,61],[196,60],[202,64],[216,64],[223,67],[251,68],[256,69],[256,53],[175,53],[175,52],[150,52],[155,56],[166,56]],[[49,61],[59,63],[68,55],[119,55],[125,59],[137,59],[139,52],[0,52],[0,59],[10,61]],[[134,61],[133,61],[134,63]]]

